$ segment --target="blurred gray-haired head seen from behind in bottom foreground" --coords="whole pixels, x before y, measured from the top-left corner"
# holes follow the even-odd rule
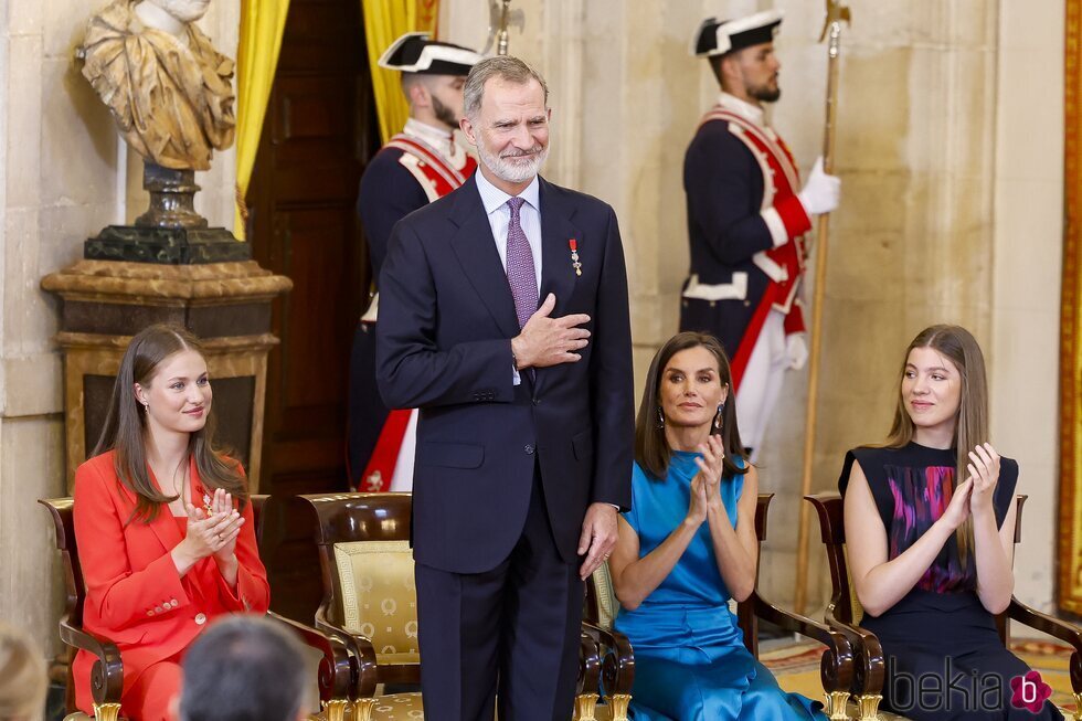
[[[315,702],[305,651],[280,624],[232,614],[201,634],[183,660],[181,721],[296,721]]]

